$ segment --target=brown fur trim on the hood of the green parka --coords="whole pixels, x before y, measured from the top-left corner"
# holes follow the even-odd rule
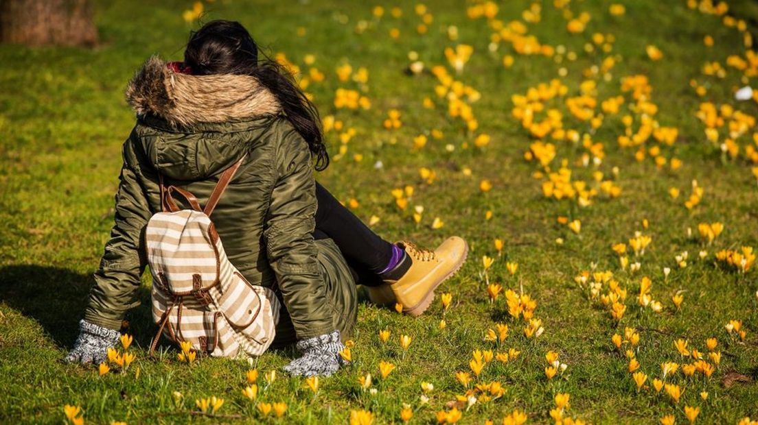
[[[253,76],[174,73],[157,56],[136,72],[126,95],[137,115],[150,113],[174,126],[223,123],[281,111],[276,96]]]

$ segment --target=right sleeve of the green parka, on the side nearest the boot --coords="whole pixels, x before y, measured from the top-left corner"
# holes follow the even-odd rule
[[[277,181],[271,194],[264,237],[287,312],[302,340],[334,330],[333,307],[313,240],[316,213],[311,153],[293,130],[277,149]]]

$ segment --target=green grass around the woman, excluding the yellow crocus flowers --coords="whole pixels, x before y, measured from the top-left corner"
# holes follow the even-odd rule
[[[566,412],[593,423],[657,423],[665,414],[675,414],[686,421],[684,405],[700,406],[700,423],[736,423],[741,417],[758,417],[758,388],[755,383],[735,383],[726,387],[722,378],[729,371],[758,377],[756,348],[756,271],[746,275],[716,265],[717,250],[742,245],[758,248],[758,193],[756,178],[745,160],[726,160],[703,135],[703,125],[694,116],[701,101],[735,104],[745,113],[758,115],[754,102],[736,104],[733,88],[741,85],[740,76],[728,70],[725,79],[706,77],[700,72],[706,60],[722,65],[729,54],[744,54],[741,37],[726,28],[718,17],[700,14],[686,7],[684,1],[619,0],[626,5],[622,17],[608,13],[606,2],[577,1],[569,8],[575,14],[587,11],[592,20],[584,33],[570,35],[565,20],[553,2],[541,2],[540,23],[528,24],[529,33],[540,42],[565,45],[577,51],[575,62],[556,64],[550,57],[514,54],[509,44],[500,50],[487,50],[491,30],[485,20],[466,17],[465,2],[428,2],[434,15],[428,33],[419,35],[415,26],[419,18],[412,4],[402,3],[402,17],[386,13],[381,20],[371,16],[371,5],[362,2],[235,2],[217,0],[206,4],[204,18],[240,20],[261,45],[271,51],[283,51],[295,64],[303,64],[305,54],[315,54],[314,64],[324,72],[324,82],[312,82],[308,88],[322,116],[335,114],[347,127],[356,129],[349,149],[318,175],[340,200],[359,201],[356,213],[363,219],[381,217],[375,230],[390,240],[400,238],[434,247],[446,235],[460,234],[471,244],[468,263],[441,290],[453,293],[453,305],[443,315],[439,300],[421,318],[397,315],[362,303],[359,323],[353,339],[355,361],[339,374],[321,382],[318,395],[304,389],[302,379],[280,372],[270,388],[262,392],[264,402],[286,402],[289,406],[282,423],[344,423],[352,409],[373,412],[377,423],[399,422],[404,403],[412,405],[412,422],[433,423],[435,412],[445,409],[463,390],[456,382],[456,371],[468,371],[473,349],[509,349],[521,351],[515,361],[484,369],[482,380],[500,381],[506,388],[502,398],[477,403],[462,417],[463,423],[483,423],[487,418],[499,422],[513,409],[525,411],[530,422],[550,422],[553,396],[571,394],[571,408]],[[498,17],[504,22],[521,18],[529,2],[503,2]],[[751,2],[731,2],[731,14],[756,16],[758,8]],[[0,46],[0,422],[61,423],[66,404],[81,405],[86,420],[108,423],[171,423],[197,419],[201,421],[261,420],[252,404],[243,396],[243,362],[203,358],[188,367],[174,360],[176,349],[165,345],[157,361],[148,358],[146,348],[155,327],[147,303],[149,278],[143,288],[143,306],[130,316],[130,333],[135,337],[133,352],[137,360],[126,374],[98,377],[94,368],[63,365],[60,360],[70,349],[77,334],[77,321],[83,315],[91,275],[99,262],[102,247],[112,224],[113,194],[121,166],[121,143],[133,126],[133,113],[124,101],[124,87],[133,71],[155,52],[168,59],[180,59],[189,29],[181,13],[191,2],[96,2],[96,23],[102,44],[94,50],[76,48],[23,48]],[[356,34],[360,20],[368,29]],[[754,20],[748,25],[755,29]],[[481,92],[481,100],[472,104],[480,128],[465,132],[461,122],[449,119],[442,100],[434,95],[436,79],[428,73],[409,76],[409,51],[416,51],[428,67],[446,64],[443,49],[454,45],[446,36],[446,26],[459,28],[459,42],[472,45],[475,53],[465,71],[456,79]],[[297,28],[305,29],[305,36]],[[402,36],[390,39],[390,28],[397,27]],[[607,117],[593,135],[603,142],[606,158],[599,169],[611,175],[619,167],[615,183],[622,187],[621,197],[606,200],[599,196],[594,205],[578,208],[572,200],[548,200],[540,191],[540,180],[532,173],[534,163],[524,160],[531,138],[512,118],[511,96],[558,76],[559,67],[567,67],[562,79],[571,95],[578,93],[583,80],[581,70],[598,64],[603,55],[587,54],[583,46],[592,33],[612,33],[616,42],[612,54],[619,60],[610,82],[598,82],[599,99],[619,94],[622,76],[644,73],[653,86],[653,101],[659,106],[656,119],[662,126],[679,129],[678,141],[664,153],[684,161],[676,172],[656,169],[650,161],[637,163],[634,150],[622,149],[616,137],[623,127],[619,116]],[[703,36],[712,35],[713,48],[703,46]],[[658,46],[665,57],[653,62],[645,55],[645,46]],[[513,54],[515,64],[506,69],[503,54]],[[337,64],[349,63],[354,69],[369,71],[370,110],[334,110],[334,90],[355,87],[340,83],[334,73]],[[699,98],[690,87],[690,79],[708,87]],[[437,102],[434,110],[424,109],[425,97]],[[556,104],[557,105],[557,104]],[[402,113],[403,126],[388,131],[381,127],[387,110]],[[584,132],[586,124],[565,114],[567,128]],[[622,110],[627,110],[627,105]],[[622,112],[625,113],[625,112]],[[635,125],[636,126],[636,125]],[[636,127],[635,127],[636,128]],[[442,141],[430,140],[421,150],[412,150],[412,138],[431,129],[444,133]],[[478,132],[492,137],[488,147],[463,147]],[[340,141],[329,133],[330,151],[337,153]],[[751,143],[750,134],[739,139],[743,149]],[[575,166],[584,152],[581,146],[555,142],[560,160],[567,159],[577,178],[589,178],[594,169]],[[446,152],[445,144],[455,150]],[[362,154],[363,160],[352,160]],[[381,160],[382,169],[374,169]],[[437,180],[427,185],[418,177],[421,166],[434,169]],[[470,177],[461,172],[468,167]],[[493,189],[479,190],[487,178]],[[697,179],[705,188],[700,205],[684,208],[691,181]],[[390,191],[413,185],[415,193],[409,208],[401,212]],[[669,197],[670,187],[681,189],[677,200]],[[420,225],[412,220],[412,207],[424,206]],[[493,218],[485,220],[491,210]],[[444,227],[430,228],[439,216]],[[556,216],[581,219],[581,234],[572,234]],[[648,219],[650,227],[641,222]],[[696,238],[687,237],[688,228],[697,234],[700,222],[723,222],[724,233],[713,246],[703,247]],[[634,231],[653,237],[641,271],[629,275],[619,268],[611,244],[628,240]],[[537,300],[535,317],[543,320],[545,331],[536,340],[522,333],[521,320],[509,318],[503,299],[490,306],[481,278],[481,256],[496,256],[493,239],[505,240],[503,256],[489,271],[490,280],[503,287],[519,290]],[[563,244],[556,244],[561,237]],[[709,251],[707,261],[697,253]],[[674,257],[688,251],[686,268],[676,267]],[[518,262],[518,272],[511,277],[505,259]],[[632,259],[634,261],[634,259]],[[597,270],[612,270],[629,291],[627,312],[618,325],[605,308],[590,302],[574,283],[575,275],[597,265]],[[664,280],[662,268],[672,273]],[[664,309],[653,313],[637,306],[636,293],[641,276],[653,279],[652,295]],[[684,291],[684,304],[673,309],[671,296]],[[445,330],[437,328],[441,318]],[[747,330],[744,342],[730,340],[724,325],[731,319],[743,321]],[[496,321],[509,324],[510,336],[500,348],[484,341],[488,327]],[[637,358],[641,370],[653,377],[661,374],[663,361],[686,362],[673,347],[683,338],[705,352],[705,339],[717,337],[722,363],[710,380],[700,374],[694,379],[681,372],[673,378],[684,388],[678,405],[665,394],[656,396],[652,389],[637,393],[627,360],[613,350],[610,337],[624,327],[634,327],[641,334]],[[390,329],[390,342],[382,344],[377,331]],[[397,343],[401,333],[412,337],[409,352],[402,357]],[[559,353],[568,365],[565,374],[548,381],[544,375],[544,355]],[[292,349],[268,352],[256,359],[260,371],[279,369],[296,355]],[[397,365],[387,380],[378,379],[378,363],[393,361]],[[136,370],[139,368],[139,377]],[[360,374],[371,373],[375,396],[359,389]],[[421,381],[434,383],[428,405],[419,405]],[[707,401],[698,396],[709,392]],[[173,392],[183,394],[176,405]],[[219,414],[233,417],[191,417],[194,400],[220,396],[226,404]],[[269,419],[270,420],[270,419]]]

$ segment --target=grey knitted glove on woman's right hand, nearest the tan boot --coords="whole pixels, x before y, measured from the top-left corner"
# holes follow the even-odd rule
[[[340,351],[345,349],[340,340],[340,331],[319,335],[318,337],[300,340],[295,345],[302,352],[302,357],[291,361],[284,370],[293,375],[305,377],[328,377],[337,372],[344,361]]]

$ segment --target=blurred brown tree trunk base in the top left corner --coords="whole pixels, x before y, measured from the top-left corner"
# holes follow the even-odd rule
[[[92,47],[97,39],[88,0],[0,0],[0,42]]]

